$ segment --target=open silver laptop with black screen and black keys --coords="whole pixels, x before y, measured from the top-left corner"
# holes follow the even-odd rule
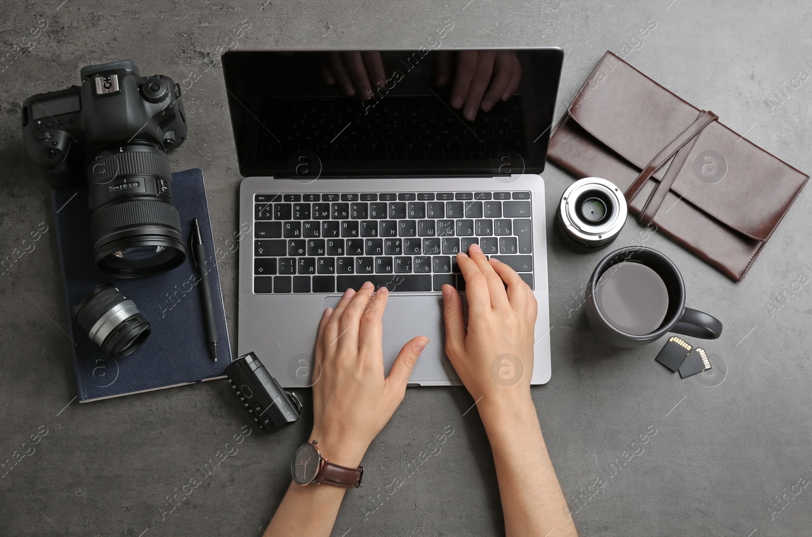
[[[464,297],[456,253],[477,243],[533,288],[531,382],[546,383],[540,174],[563,58],[554,47],[223,54],[250,230],[238,354],[256,353],[285,388],[311,386],[323,311],[369,280],[390,291],[385,374],[408,340],[428,336],[409,386],[460,384],[443,350],[441,286]]]

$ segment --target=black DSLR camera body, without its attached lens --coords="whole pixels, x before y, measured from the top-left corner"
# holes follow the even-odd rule
[[[140,76],[126,59],[82,67],[80,77],[23,103],[25,149],[54,187],[82,184],[79,172],[99,149],[136,142],[168,151],[186,139],[180,86],[168,76]]]

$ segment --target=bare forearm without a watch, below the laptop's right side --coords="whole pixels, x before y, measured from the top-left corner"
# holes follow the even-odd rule
[[[529,394],[515,406],[480,409],[494,453],[508,537],[577,535]],[[483,401],[484,402],[484,401]]]

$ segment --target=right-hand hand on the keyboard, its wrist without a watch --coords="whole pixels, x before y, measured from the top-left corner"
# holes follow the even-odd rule
[[[488,260],[479,245],[471,245],[469,253],[457,254],[468,298],[467,326],[460,295],[443,285],[446,354],[481,414],[515,409],[529,401],[536,298],[516,271]]]

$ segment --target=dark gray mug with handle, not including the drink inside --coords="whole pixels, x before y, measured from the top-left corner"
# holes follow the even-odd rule
[[[595,298],[595,288],[601,275],[610,266],[624,261],[641,262],[648,266],[663,279],[668,289],[668,308],[663,323],[657,330],[642,336],[628,334],[613,327],[601,313]],[[685,307],[685,282],[672,260],[646,246],[627,246],[601,259],[592,272],[589,284],[586,285],[585,311],[586,318],[593,330],[598,332],[598,336],[618,347],[641,347],[659,340],[669,331],[704,340],[715,340],[722,335],[722,323],[718,318]]]

